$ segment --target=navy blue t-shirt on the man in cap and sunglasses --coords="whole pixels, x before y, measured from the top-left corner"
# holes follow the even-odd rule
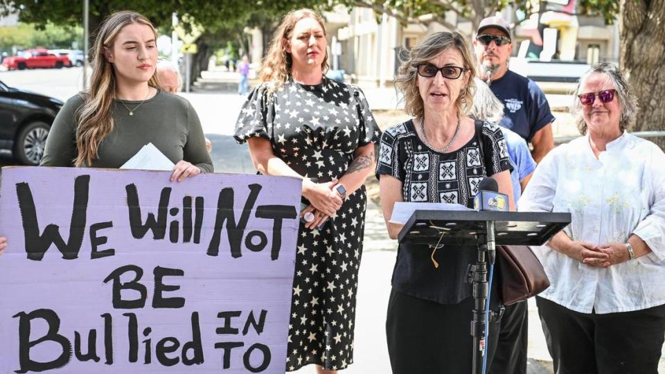
[[[504,118],[499,125],[513,130],[527,142],[555,119],[545,94],[529,78],[508,70],[504,76],[492,81],[490,89],[504,104]]]

